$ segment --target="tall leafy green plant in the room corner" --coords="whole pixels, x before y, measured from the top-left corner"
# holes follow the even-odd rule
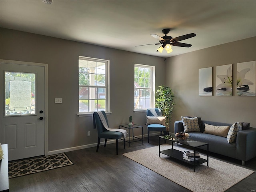
[[[163,116],[166,116],[166,131],[167,134],[169,134],[169,125],[171,122],[172,110],[173,106],[175,105],[173,101],[174,94],[170,87],[158,86],[158,88],[159,89],[156,91],[156,93],[158,93],[158,96],[156,98],[156,107],[161,110]]]

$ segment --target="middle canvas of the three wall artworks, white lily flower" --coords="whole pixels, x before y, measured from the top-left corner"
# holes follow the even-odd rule
[[[232,96],[232,64],[216,67],[216,95],[217,96]]]

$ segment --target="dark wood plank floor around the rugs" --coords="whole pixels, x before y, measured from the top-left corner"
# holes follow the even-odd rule
[[[126,158],[122,153],[158,145],[158,136],[141,142],[116,144],[67,152],[74,165],[48,170],[9,180],[10,192],[190,192],[148,168]],[[211,157],[242,166],[241,161],[217,154]],[[245,168],[256,171],[256,158],[246,162]],[[174,173],[175,174],[175,173]],[[210,181],[209,181],[210,182]],[[220,181],[221,182],[221,181]],[[251,174],[226,192],[256,190],[256,173]]]

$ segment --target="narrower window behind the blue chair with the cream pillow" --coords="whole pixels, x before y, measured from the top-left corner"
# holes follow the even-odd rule
[[[154,108],[155,67],[134,65],[134,110]]]

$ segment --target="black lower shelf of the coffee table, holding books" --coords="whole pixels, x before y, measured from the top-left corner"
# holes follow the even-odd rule
[[[176,150],[176,149],[167,149],[167,150],[159,151],[159,156],[160,156],[160,153],[168,155],[172,158],[178,159],[182,162],[185,162],[185,163],[193,165],[193,166],[200,165],[202,163],[207,162],[207,160],[203,159],[203,158],[200,158],[199,160],[195,160],[195,161],[184,160],[183,159],[183,152],[179,151],[179,150]]]

